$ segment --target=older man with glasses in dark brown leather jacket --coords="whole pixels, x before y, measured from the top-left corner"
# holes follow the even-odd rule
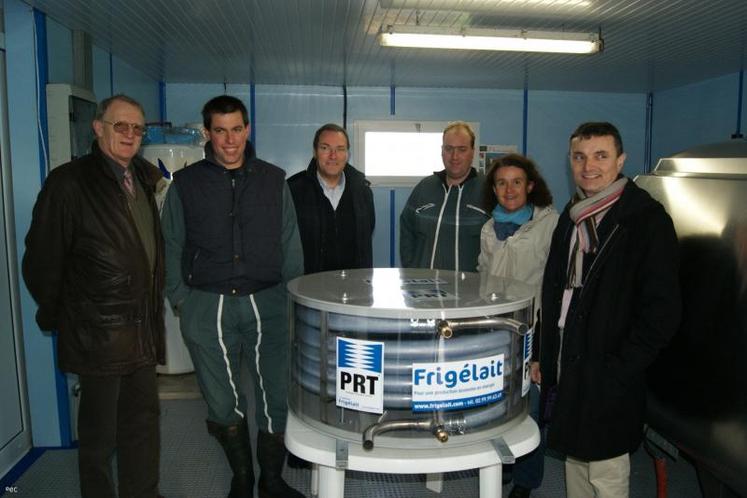
[[[96,111],[91,154],[53,169],[34,206],[23,277],[36,321],[56,330],[61,370],[79,375],[84,498],[158,494],[156,363],[164,362],[162,178],[136,156],[142,106],[125,95]]]

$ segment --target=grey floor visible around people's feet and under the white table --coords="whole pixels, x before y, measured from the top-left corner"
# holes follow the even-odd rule
[[[166,498],[223,498],[228,494],[230,469],[220,446],[205,430],[205,403],[197,395],[192,376],[165,378],[161,382],[161,494]],[[250,419],[251,420],[251,419]],[[78,497],[77,450],[48,450],[15,483],[14,497]],[[685,460],[668,460],[669,496],[701,498],[693,467]],[[285,469],[289,484],[310,494],[310,471]],[[547,456],[542,486],[536,498],[565,496],[563,462]],[[504,496],[511,486],[504,486]],[[0,490],[2,492],[2,490]],[[10,495],[6,495],[10,496]],[[348,472],[345,496],[354,498],[470,498],[478,496],[476,471],[455,472],[444,477],[439,495],[425,487],[420,475],[386,475]],[[639,450],[631,460],[631,498],[656,496],[651,458]],[[323,497],[320,497],[323,498]]]

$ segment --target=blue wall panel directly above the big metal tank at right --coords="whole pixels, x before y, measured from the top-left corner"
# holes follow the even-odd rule
[[[736,131],[738,90],[734,73],[655,93],[653,164],[695,145],[729,140]]]

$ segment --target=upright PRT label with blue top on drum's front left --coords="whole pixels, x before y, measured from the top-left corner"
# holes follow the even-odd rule
[[[384,343],[337,338],[337,406],[384,413]]]

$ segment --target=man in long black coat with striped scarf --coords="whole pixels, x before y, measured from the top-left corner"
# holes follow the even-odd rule
[[[547,445],[566,455],[570,498],[627,497],[645,371],[680,320],[677,237],[662,205],[620,174],[625,154],[613,125],[579,126],[570,162],[577,190],[553,233],[542,286]]]

